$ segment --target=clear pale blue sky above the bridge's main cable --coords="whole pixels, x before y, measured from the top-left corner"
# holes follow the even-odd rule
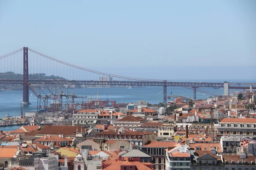
[[[0,56],[27,46],[152,79],[256,79],[255,0],[1,0]]]

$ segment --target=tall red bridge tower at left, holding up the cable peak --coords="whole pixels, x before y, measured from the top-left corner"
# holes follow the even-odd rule
[[[29,86],[26,81],[29,79],[29,50],[23,47],[23,102],[22,105],[30,105],[29,103]]]

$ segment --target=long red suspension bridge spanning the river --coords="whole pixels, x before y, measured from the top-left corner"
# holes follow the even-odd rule
[[[254,84],[245,83],[244,87],[230,86],[228,82],[170,82],[161,79],[143,79],[135,77],[125,77],[116,74],[108,74],[100,71],[87,69],[78,65],[55,59],[41,52],[28,47],[20,48],[9,54],[0,56],[0,73],[14,72],[23,74],[23,79],[7,78],[0,79],[0,84],[21,84],[23,85],[23,105],[29,105],[29,88],[32,85],[122,85],[122,86],[162,86],[163,102],[166,103],[167,87],[186,87],[194,91],[196,99],[197,88],[224,88],[224,94],[229,95],[229,89],[256,89]],[[44,73],[46,75],[55,75],[59,79],[31,79],[29,72],[33,74]],[[35,93],[35,92],[34,92]],[[206,92],[207,93],[207,92]],[[210,94],[210,92],[209,92]]]

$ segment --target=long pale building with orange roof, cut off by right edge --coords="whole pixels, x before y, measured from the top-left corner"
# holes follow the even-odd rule
[[[256,137],[256,119],[223,118],[219,122],[217,129],[219,134]]]

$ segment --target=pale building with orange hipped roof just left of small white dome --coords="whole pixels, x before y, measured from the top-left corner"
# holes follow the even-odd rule
[[[148,108],[137,108],[131,111],[127,111],[127,115],[139,116],[146,120],[157,120],[158,113],[155,110]]]

